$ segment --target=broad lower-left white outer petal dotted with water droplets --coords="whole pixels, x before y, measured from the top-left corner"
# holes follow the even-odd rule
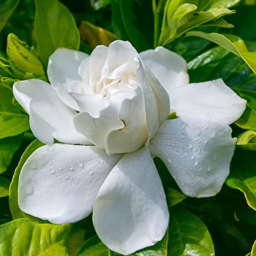
[[[54,224],[85,218],[120,157],[110,157],[95,146],[52,144],[38,148],[20,172],[20,209]]]

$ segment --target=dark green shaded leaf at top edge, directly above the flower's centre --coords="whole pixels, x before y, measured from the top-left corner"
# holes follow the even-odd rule
[[[152,49],[154,21],[151,1],[111,0],[111,3],[115,34],[122,40],[129,39],[139,52]]]

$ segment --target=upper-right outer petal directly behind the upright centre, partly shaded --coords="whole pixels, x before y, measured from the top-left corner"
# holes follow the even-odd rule
[[[186,61],[164,47],[140,52],[140,58],[160,81],[166,91],[189,83]]]

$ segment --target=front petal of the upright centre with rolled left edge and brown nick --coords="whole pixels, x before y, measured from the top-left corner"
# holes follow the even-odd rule
[[[119,119],[124,128],[108,134],[105,148],[108,154],[132,152],[140,148],[148,138],[143,93],[136,88],[136,96],[124,99],[119,110]]]

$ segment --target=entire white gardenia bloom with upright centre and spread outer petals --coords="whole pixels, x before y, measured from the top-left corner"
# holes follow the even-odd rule
[[[220,191],[236,144],[229,124],[246,107],[221,79],[189,84],[176,53],[157,47],[138,54],[124,41],[90,56],[57,49],[47,74],[50,84],[29,79],[13,87],[33,134],[49,144],[20,172],[22,211],[54,224],[93,212],[99,238],[128,255],[160,241],[168,226],[153,157],[186,195]],[[179,117],[167,119],[173,111]]]

